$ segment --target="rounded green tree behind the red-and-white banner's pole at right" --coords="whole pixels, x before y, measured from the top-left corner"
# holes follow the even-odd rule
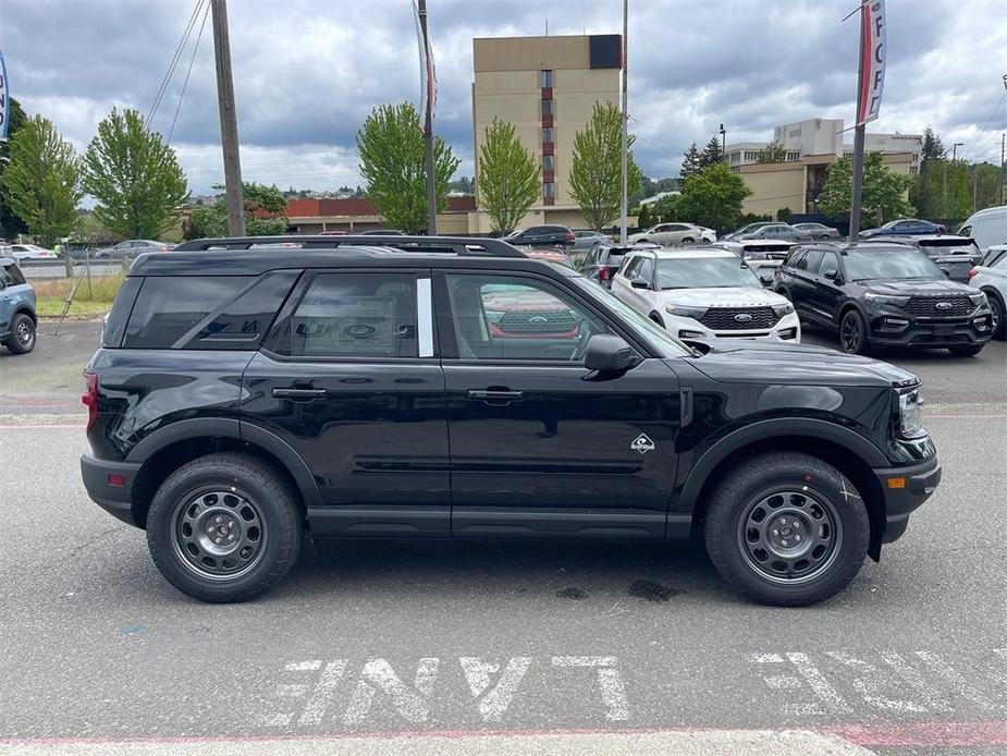
[[[869,153],[863,159],[862,216],[881,224],[914,215],[916,208],[904,197],[908,186],[908,175],[885,167],[881,153]],[[839,158],[828,169],[819,208],[827,216],[845,217],[849,215],[852,196],[854,162],[850,158]]]

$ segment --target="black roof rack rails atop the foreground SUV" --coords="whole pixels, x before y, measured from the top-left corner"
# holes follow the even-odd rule
[[[253,247],[296,245],[302,249],[333,249],[341,246],[394,247],[402,252],[447,253],[465,257],[526,257],[517,247],[500,239],[466,236],[401,236],[367,234],[365,236],[311,236],[284,234],[282,236],[232,236],[228,239],[196,239],[175,247],[175,252],[205,252],[207,249],[251,249]]]

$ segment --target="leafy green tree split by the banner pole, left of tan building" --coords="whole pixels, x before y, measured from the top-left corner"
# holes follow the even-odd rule
[[[365,196],[386,223],[407,233],[427,229],[423,133],[408,102],[374,108],[357,132]],[[440,137],[433,144],[437,209],[447,209],[451,178],[460,160]]]

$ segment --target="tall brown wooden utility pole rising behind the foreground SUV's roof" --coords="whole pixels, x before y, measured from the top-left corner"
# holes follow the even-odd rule
[[[228,33],[226,0],[210,0],[213,11],[213,58],[217,61],[217,100],[220,106],[220,143],[224,153],[224,185],[228,197],[228,233],[245,235],[245,191],[238,154],[234,81],[231,77],[231,37]]]

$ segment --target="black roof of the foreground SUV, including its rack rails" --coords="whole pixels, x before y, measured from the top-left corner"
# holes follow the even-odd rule
[[[186,242],[145,253],[130,276],[258,276],[303,268],[513,269],[565,276],[573,270],[532,259],[496,239],[455,236],[244,236]]]

